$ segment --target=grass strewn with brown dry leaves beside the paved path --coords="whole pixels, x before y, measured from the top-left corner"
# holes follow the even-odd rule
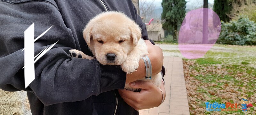
[[[243,95],[251,97],[249,102],[256,104],[255,69],[239,65],[198,64],[196,60],[183,60],[184,76],[191,114],[241,114],[238,111],[206,111],[205,102],[237,103]],[[241,104],[239,104],[241,107]],[[254,111],[253,111],[254,110]],[[248,114],[256,114],[255,107]]]

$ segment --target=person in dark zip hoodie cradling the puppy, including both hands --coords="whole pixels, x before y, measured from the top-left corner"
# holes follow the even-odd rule
[[[120,67],[99,65],[97,61],[71,58],[68,50],[78,49],[92,56],[82,36],[86,23],[103,11],[122,11],[142,29],[145,24],[137,15],[132,1],[0,1],[0,88],[6,91],[25,90],[33,115],[116,114],[136,115],[138,110],[161,104],[162,92],[153,83],[136,81],[146,76],[144,61],[132,74]],[[60,40],[35,63],[36,79],[24,88],[24,31],[35,23],[35,36],[54,25],[35,42],[35,54]],[[152,73],[162,70],[161,48],[146,41]],[[123,89],[126,83],[140,92]],[[163,83],[160,87],[165,96]],[[118,92],[120,95],[118,95]]]

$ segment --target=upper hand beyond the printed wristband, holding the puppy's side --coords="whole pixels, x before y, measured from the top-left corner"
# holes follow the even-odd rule
[[[161,72],[164,64],[163,50],[160,47],[153,45],[149,40],[145,40],[145,42],[148,46],[148,57],[152,65],[152,74],[156,75]]]

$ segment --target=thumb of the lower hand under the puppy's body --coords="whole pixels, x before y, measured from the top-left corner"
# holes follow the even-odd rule
[[[149,81],[133,81],[129,83],[129,85],[132,88],[149,89],[149,88],[152,88],[152,85],[155,85],[155,84]]]

